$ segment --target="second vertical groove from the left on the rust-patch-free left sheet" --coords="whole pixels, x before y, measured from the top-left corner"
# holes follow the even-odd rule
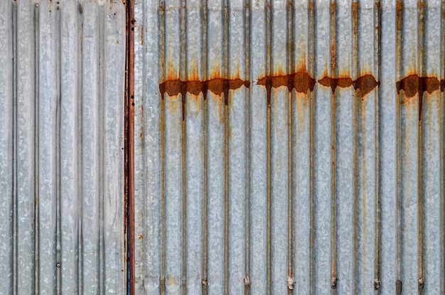
[[[36,60],[35,64],[34,64],[34,71],[35,71],[35,76],[34,76],[34,81],[35,81],[35,90],[34,90],[34,95],[35,95],[35,102],[34,102],[34,274],[33,274],[33,285],[34,285],[34,291],[36,293],[38,293],[40,290],[38,288],[38,276],[39,273],[37,270],[37,266],[38,266],[38,255],[39,255],[39,243],[38,243],[38,234],[39,234],[39,230],[38,230],[38,176],[39,176],[39,164],[38,164],[38,159],[39,159],[39,137],[38,137],[38,129],[39,129],[39,100],[40,100],[40,95],[39,95],[39,70],[40,70],[40,64],[39,64],[39,58],[40,58],[40,48],[39,48],[39,44],[40,44],[40,18],[39,18],[39,9],[38,9],[38,5],[35,4],[35,9],[34,9],[34,60]]]

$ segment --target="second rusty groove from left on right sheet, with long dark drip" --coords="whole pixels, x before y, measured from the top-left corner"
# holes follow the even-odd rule
[[[181,0],[181,53],[179,60],[179,77],[182,81],[188,80],[187,69],[187,8],[186,0]],[[187,294],[187,85],[181,85],[181,244],[182,244],[182,265],[181,265],[181,290],[182,294]]]

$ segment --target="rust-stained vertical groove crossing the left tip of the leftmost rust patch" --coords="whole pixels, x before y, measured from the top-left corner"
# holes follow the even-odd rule
[[[165,2],[159,3],[159,61],[161,80],[166,78],[166,19]],[[159,277],[159,294],[166,293],[166,102],[165,95],[161,94],[161,273]]]

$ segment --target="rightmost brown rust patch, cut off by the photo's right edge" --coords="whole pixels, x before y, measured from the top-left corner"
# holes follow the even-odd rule
[[[439,81],[436,77],[419,77],[419,75],[409,75],[398,81],[396,84],[397,94],[403,90],[407,98],[414,97],[424,92],[430,95],[436,90],[444,91],[445,80]]]

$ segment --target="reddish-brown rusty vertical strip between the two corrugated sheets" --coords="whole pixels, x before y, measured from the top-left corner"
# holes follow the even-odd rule
[[[135,260],[134,260],[134,0],[127,0],[127,79],[125,92],[125,112],[127,112],[126,136],[125,136],[125,155],[126,167],[125,176],[127,193],[127,228],[129,232],[129,294],[135,294]]]

